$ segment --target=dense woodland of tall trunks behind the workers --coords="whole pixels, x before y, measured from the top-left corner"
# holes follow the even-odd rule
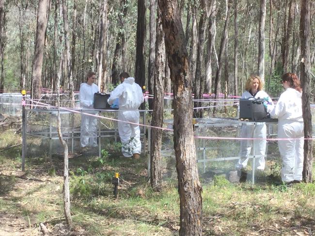
[[[299,74],[300,1],[267,0],[265,3],[265,71],[262,77],[265,90],[271,96],[279,96],[281,74]],[[41,4],[46,12],[39,11],[44,9]],[[190,72],[194,86],[200,87],[200,92],[194,91],[195,94],[240,95],[246,78],[259,74],[261,1],[178,0],[178,5]],[[44,12],[47,29],[44,20],[42,40],[45,44],[38,79],[38,74],[32,74],[34,58],[38,56],[35,52],[36,21],[40,15],[43,18]],[[31,90],[32,84],[55,90],[59,70],[61,87],[78,91],[87,71],[92,70],[97,73],[99,87],[110,91],[118,75],[127,71],[152,94],[156,15],[157,2],[154,0],[0,0],[0,86],[4,91]],[[315,2],[311,1],[309,53],[312,75],[314,15]],[[38,69],[36,71],[39,73]],[[166,92],[172,90],[169,73],[166,64]],[[314,75],[311,79],[313,94]]]

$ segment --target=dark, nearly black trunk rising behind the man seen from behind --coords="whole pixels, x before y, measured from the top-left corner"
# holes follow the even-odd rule
[[[135,81],[142,86],[145,84],[145,58],[144,58],[144,38],[145,38],[145,0],[138,0],[137,18],[137,45],[136,45],[136,66]]]

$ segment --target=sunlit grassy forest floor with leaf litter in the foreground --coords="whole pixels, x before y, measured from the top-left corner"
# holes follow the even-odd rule
[[[0,236],[43,235],[40,222],[53,236],[178,235],[176,183],[165,180],[164,190],[153,192],[144,156],[125,159],[117,148],[102,158],[93,150],[71,156],[74,225],[69,228],[63,214],[63,157],[53,156],[53,163],[46,156],[27,158],[22,172],[18,144],[19,135],[1,133]],[[117,199],[111,183],[115,172],[121,175]],[[203,189],[203,231],[205,236],[312,236],[315,184],[252,186],[216,177]]]

